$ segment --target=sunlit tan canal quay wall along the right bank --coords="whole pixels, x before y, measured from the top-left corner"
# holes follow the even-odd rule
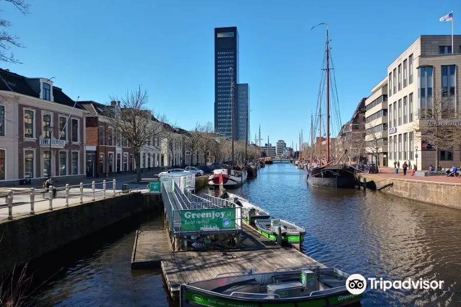
[[[395,178],[383,179],[371,174],[367,175],[362,174],[361,177],[367,178],[367,181],[373,180],[376,183],[376,189],[381,192],[417,202],[461,209],[461,186],[459,185]]]

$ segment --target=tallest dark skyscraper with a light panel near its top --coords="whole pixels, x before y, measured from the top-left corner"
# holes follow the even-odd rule
[[[238,126],[239,33],[237,27],[215,28],[215,131],[232,135],[231,84],[234,87],[234,125]],[[236,130],[237,131],[237,130]],[[238,131],[237,131],[238,132]],[[238,135],[235,134],[236,136]]]

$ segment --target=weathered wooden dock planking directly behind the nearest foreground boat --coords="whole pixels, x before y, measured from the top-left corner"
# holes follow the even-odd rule
[[[175,258],[161,262],[167,287],[179,298],[182,283],[214,278],[216,274],[254,269],[271,272],[281,267],[325,267],[296,249],[263,249],[227,252],[177,252]]]

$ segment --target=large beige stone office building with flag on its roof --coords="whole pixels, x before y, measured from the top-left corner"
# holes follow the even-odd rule
[[[434,99],[447,96],[459,113],[458,70],[461,66],[461,35],[422,35],[388,67],[388,162],[410,161],[418,169],[435,166],[433,144],[417,131],[420,110]],[[459,147],[459,146],[458,146]],[[459,148],[439,152],[441,167],[459,166]]]

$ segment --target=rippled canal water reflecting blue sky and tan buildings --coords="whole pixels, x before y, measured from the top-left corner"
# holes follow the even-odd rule
[[[363,306],[461,305],[461,211],[380,192],[311,188],[288,163],[266,166],[236,192],[303,226],[304,252],[327,266],[366,278],[444,281],[442,290],[367,289]],[[162,223],[155,214],[131,218],[43,257],[33,265],[36,290],[28,302],[176,306],[159,270],[130,269],[135,231]]]

